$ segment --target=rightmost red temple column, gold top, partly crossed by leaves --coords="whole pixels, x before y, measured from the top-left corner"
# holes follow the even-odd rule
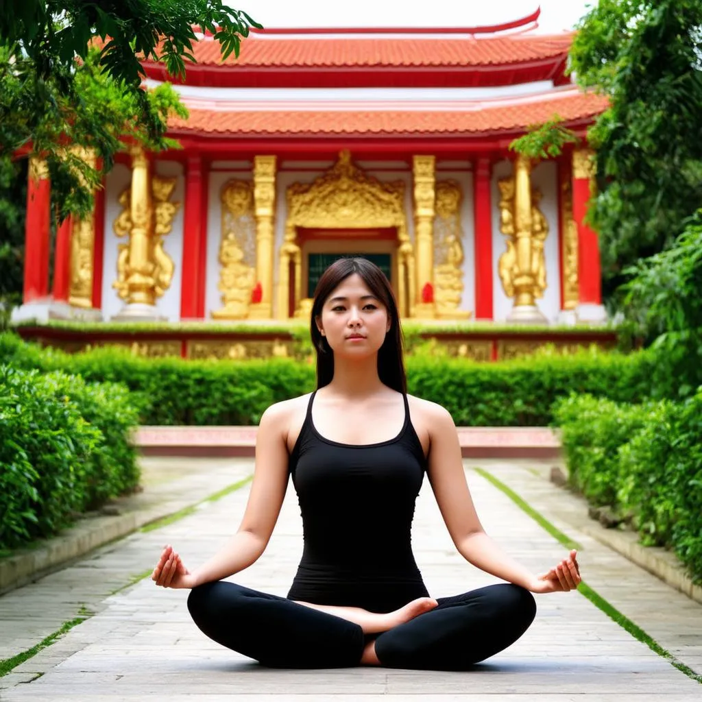
[[[600,244],[583,220],[592,195],[593,164],[588,150],[573,153],[573,218],[578,225],[578,282],[580,305],[602,304]]]

